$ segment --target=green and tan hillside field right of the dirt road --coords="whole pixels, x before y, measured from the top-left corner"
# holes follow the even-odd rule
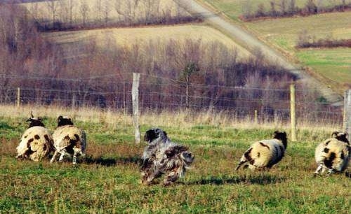
[[[331,85],[337,92],[342,93],[350,87],[350,48],[298,50],[295,46],[298,35],[304,30],[307,30],[308,34],[317,39],[330,36],[335,39],[351,38],[349,18],[351,12],[241,22],[238,17],[242,14],[242,8],[246,1],[218,0],[204,2],[211,4],[216,10],[223,11],[232,20],[243,24],[261,40],[281,50],[291,59],[309,66],[315,72],[315,77]],[[253,7],[257,6],[260,1],[254,2]],[[296,2],[298,6],[303,6],[305,3],[303,0]],[[337,1],[324,2],[338,3]],[[265,3],[269,3],[269,1],[265,1]]]

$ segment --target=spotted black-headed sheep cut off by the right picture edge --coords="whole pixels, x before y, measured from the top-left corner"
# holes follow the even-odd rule
[[[347,133],[334,131],[331,138],[317,145],[314,152],[317,162],[314,176],[324,173],[326,169],[328,169],[328,174],[344,171],[348,166],[350,153]]]

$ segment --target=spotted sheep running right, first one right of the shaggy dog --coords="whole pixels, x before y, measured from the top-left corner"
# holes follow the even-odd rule
[[[274,136],[270,140],[263,140],[253,143],[244,152],[237,166],[238,170],[242,164],[250,169],[270,169],[283,157],[287,146],[286,132],[274,131]]]

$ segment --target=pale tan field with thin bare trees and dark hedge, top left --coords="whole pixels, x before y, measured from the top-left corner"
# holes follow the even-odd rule
[[[23,5],[40,31],[201,22],[201,17],[169,0],[48,0]]]

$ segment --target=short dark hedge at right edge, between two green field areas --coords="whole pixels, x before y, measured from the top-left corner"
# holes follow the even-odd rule
[[[328,38],[316,38],[308,34],[307,31],[301,31],[298,35],[296,48],[351,48],[351,39],[335,39],[329,36]]]

